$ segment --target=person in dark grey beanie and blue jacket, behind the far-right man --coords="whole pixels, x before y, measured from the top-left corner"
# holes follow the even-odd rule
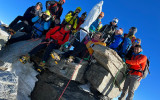
[[[129,29],[128,34],[124,34],[124,39],[122,44],[118,47],[119,51],[118,54],[122,57],[125,61],[125,56],[128,53],[129,49],[132,46],[133,41],[136,39],[135,34],[137,32],[136,27],[131,27]]]

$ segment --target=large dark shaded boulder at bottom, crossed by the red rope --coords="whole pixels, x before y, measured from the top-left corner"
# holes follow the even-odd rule
[[[31,93],[31,100],[58,100],[69,80],[45,70],[38,75],[38,81]],[[89,93],[78,88],[78,83],[70,81],[60,100],[98,100]]]

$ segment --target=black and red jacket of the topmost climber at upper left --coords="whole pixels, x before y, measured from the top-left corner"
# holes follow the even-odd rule
[[[52,16],[55,16],[56,19],[60,19],[63,12],[62,5],[57,1],[50,1],[50,2],[52,3],[50,4],[48,10],[52,14]]]

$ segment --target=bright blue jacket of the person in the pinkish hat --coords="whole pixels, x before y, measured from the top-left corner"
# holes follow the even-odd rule
[[[111,43],[109,47],[111,49],[116,50],[117,47],[122,43],[122,41],[123,41],[122,35],[114,35],[114,41]]]

